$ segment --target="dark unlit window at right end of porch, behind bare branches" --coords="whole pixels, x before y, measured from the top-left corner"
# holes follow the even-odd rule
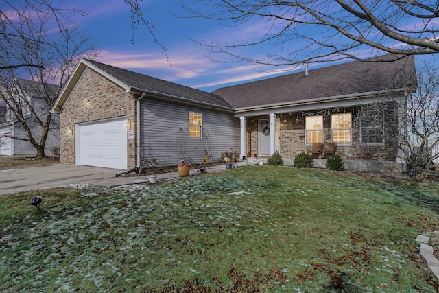
[[[360,140],[366,144],[383,144],[383,111],[368,110],[360,119]]]

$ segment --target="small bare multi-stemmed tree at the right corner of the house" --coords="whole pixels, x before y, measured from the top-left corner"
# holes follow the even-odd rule
[[[404,75],[394,85],[406,89],[405,97],[379,97],[359,109],[361,138],[398,146],[398,156],[423,180],[439,158],[439,68],[422,62],[416,74]]]

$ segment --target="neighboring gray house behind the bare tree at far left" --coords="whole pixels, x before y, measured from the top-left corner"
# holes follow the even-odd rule
[[[36,123],[31,110],[28,106],[26,106],[24,101],[27,100],[29,104],[32,105],[32,108],[36,111],[36,113],[38,113],[38,117],[44,119],[47,113],[49,113],[50,109],[45,106],[43,99],[40,97],[40,91],[38,89],[40,86],[42,86],[40,82],[34,82],[32,80],[15,80],[16,92],[14,93],[14,99],[17,101],[22,101],[23,115],[27,125],[30,126],[32,135],[34,135],[37,140],[39,140],[41,137],[41,126]],[[54,84],[45,84],[45,86],[47,86],[51,92],[54,93],[54,96],[56,95],[58,86]],[[8,97],[6,97],[6,99],[7,98]],[[53,148],[59,148],[60,139],[58,125],[58,115],[52,115],[51,129],[49,130],[45,145],[46,154],[51,154],[51,150],[53,150]],[[8,107],[7,103],[5,103],[4,120],[0,120],[0,155],[14,156],[36,154],[35,148],[32,147],[32,144],[29,143],[29,141],[2,137],[4,135],[24,139],[27,137],[27,133],[23,129],[23,126],[21,126],[19,121],[17,121],[17,119],[14,117],[14,113],[12,113],[12,110]]]

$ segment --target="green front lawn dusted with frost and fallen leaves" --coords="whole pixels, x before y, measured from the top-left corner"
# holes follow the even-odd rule
[[[436,292],[414,239],[438,202],[436,183],[270,166],[0,196],[0,290]]]

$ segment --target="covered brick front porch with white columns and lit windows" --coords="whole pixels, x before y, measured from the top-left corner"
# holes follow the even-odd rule
[[[246,163],[254,165],[278,152],[284,165],[293,165],[295,156],[305,152],[315,158],[314,167],[325,168],[325,156],[335,153],[344,159],[348,170],[406,172],[396,143],[366,135],[376,129],[361,124],[362,117],[357,115],[356,107],[346,107],[240,116],[241,158],[246,157]],[[311,150],[313,144],[320,145],[318,151]],[[254,159],[255,154],[258,159]]]

